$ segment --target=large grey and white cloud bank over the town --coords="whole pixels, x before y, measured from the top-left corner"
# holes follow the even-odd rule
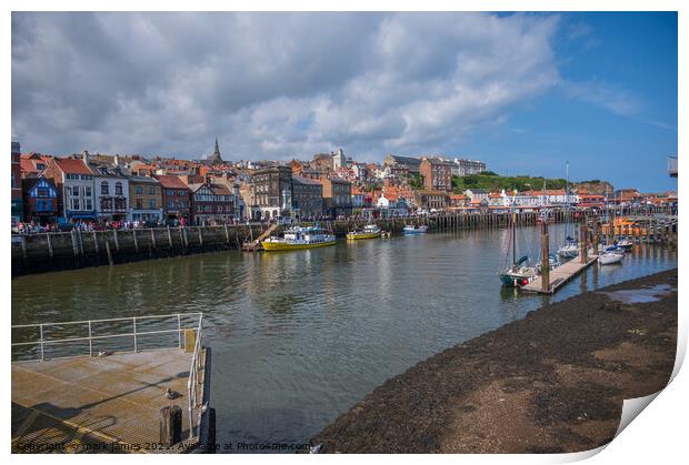
[[[461,151],[559,81],[556,17],[13,13],[27,150],[231,159]]]

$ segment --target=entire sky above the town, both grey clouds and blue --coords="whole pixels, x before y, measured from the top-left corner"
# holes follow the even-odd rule
[[[22,152],[360,161],[676,190],[677,14],[12,13]]]

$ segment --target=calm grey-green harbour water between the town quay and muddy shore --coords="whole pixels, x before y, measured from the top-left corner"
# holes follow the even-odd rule
[[[562,225],[550,228],[552,250]],[[538,254],[538,229],[519,233]],[[638,245],[555,296],[501,289],[507,230],[238,251],[12,280],[12,324],[203,312],[220,443],[304,443],[385,380],[551,300],[677,266]],[[530,251],[526,246],[530,244]]]

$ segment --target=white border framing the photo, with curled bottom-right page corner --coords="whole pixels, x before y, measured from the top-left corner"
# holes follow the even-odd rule
[[[482,2],[470,2],[470,1],[441,1],[441,0],[425,0],[423,2],[411,2],[411,1],[371,1],[371,0],[351,0],[348,2],[331,2],[327,3],[323,1],[316,0],[291,0],[289,2],[279,2],[279,1],[267,1],[267,0],[258,0],[251,3],[239,3],[239,2],[221,2],[221,1],[211,1],[211,0],[196,0],[193,2],[181,2],[181,1],[147,1],[147,0],[121,0],[121,1],[84,1],[84,0],[73,0],[73,1],[62,1],[62,2],[51,2],[47,0],[42,1],[16,1],[10,0],[3,2],[4,14],[0,20],[1,30],[4,31],[2,33],[2,39],[4,42],[4,47],[2,48],[2,63],[4,68],[4,72],[2,73],[2,82],[4,89],[6,98],[2,99],[4,111],[2,112],[2,121],[3,127],[8,132],[11,131],[11,89],[10,89],[10,67],[11,67],[11,18],[10,11],[76,11],[76,10],[84,10],[84,11],[134,11],[134,10],[144,10],[144,11],[221,11],[221,10],[234,10],[234,11],[304,11],[304,10],[316,10],[316,11],[679,11],[679,113],[678,113],[678,128],[687,128],[687,92],[686,92],[686,83],[688,82],[687,77],[687,43],[689,43],[688,37],[688,7],[687,2],[682,2],[680,0],[656,0],[656,1],[613,1],[613,0],[580,0],[580,1],[542,1],[542,0],[530,0],[530,1],[518,1],[518,0],[496,0],[496,1],[482,1]],[[287,8],[289,7],[289,8]],[[682,153],[680,158],[680,165],[682,165],[683,154],[687,153],[687,140],[686,135],[682,131],[678,134],[679,138],[679,152]],[[6,148],[9,145],[10,141],[6,141]],[[7,152],[6,152],[7,153]],[[6,163],[2,164],[2,170],[9,169],[9,160],[6,160]],[[0,203],[0,208],[2,209],[3,216],[9,220],[9,173],[4,173],[0,176],[0,190],[2,192],[2,201]],[[682,184],[678,183],[679,196],[685,198],[686,188]],[[683,210],[680,212],[680,216],[682,216],[683,224]],[[9,221],[7,221],[9,223]],[[683,229],[680,230],[680,242],[682,244],[686,243],[686,234]],[[9,228],[4,233],[4,240],[2,243],[3,256],[9,255]],[[4,255],[7,253],[8,255]],[[682,262],[685,256],[685,249],[680,249],[679,261]],[[7,263],[8,261],[4,260]],[[685,273],[680,270],[680,282],[686,282],[683,280]],[[6,305],[4,311],[10,313],[10,270],[9,266],[6,265],[2,269],[2,283],[4,289],[8,291],[4,293],[6,295]],[[680,285],[680,331],[678,337],[678,353],[685,354],[687,348],[687,319],[686,319],[686,309],[687,299],[685,293],[681,291]],[[0,422],[0,437],[4,437],[6,443],[6,454],[10,455],[10,351],[9,351],[9,324],[2,326],[2,337],[6,341],[6,362],[3,364],[4,368],[4,380],[6,382],[2,385],[2,392],[4,394],[6,404],[3,421]],[[608,463],[673,463],[677,458],[686,456],[687,447],[686,447],[686,419],[687,418],[687,400],[683,395],[685,392],[689,392],[687,388],[687,375],[686,370],[680,371],[673,382],[662,392],[660,395],[653,401],[651,406],[643,411],[640,415],[640,418],[632,422],[620,435],[617,437],[608,447],[605,447],[605,451],[600,454],[595,454],[593,458],[591,458],[590,463],[597,464],[608,464]],[[596,451],[600,452],[600,451]],[[481,463],[523,463],[523,464],[533,464],[533,463],[562,463],[562,462],[571,462],[585,458],[585,456],[590,456],[589,454],[565,454],[565,455],[489,455],[489,456],[477,456],[477,455],[438,455],[438,456],[407,456],[407,455],[383,455],[383,456],[366,456],[366,455],[318,455],[318,456],[303,456],[303,455],[280,455],[280,456],[267,456],[267,455],[252,455],[252,456],[224,456],[224,455],[216,455],[216,456],[202,456],[202,455],[190,455],[190,456],[127,456],[127,458],[122,458],[122,456],[72,456],[71,458],[67,456],[52,456],[52,455],[42,455],[40,458],[41,462],[64,462],[64,461],[74,461],[74,462],[93,462],[94,459],[111,462],[111,461],[146,461],[147,463],[189,463],[190,461],[203,461],[208,463],[227,463],[227,462],[252,462],[252,463],[272,463],[272,462],[302,462],[302,461],[319,461],[319,462],[328,462],[328,463],[340,463],[340,462],[353,462],[353,461],[376,461],[377,463],[382,464],[392,464],[399,462],[417,462],[419,459],[428,461],[432,459],[436,463],[452,463],[456,464],[458,461],[470,461],[470,462],[481,462]],[[194,458],[196,457],[196,458]],[[11,456],[8,457],[17,463],[33,463],[37,457],[36,456]]]

